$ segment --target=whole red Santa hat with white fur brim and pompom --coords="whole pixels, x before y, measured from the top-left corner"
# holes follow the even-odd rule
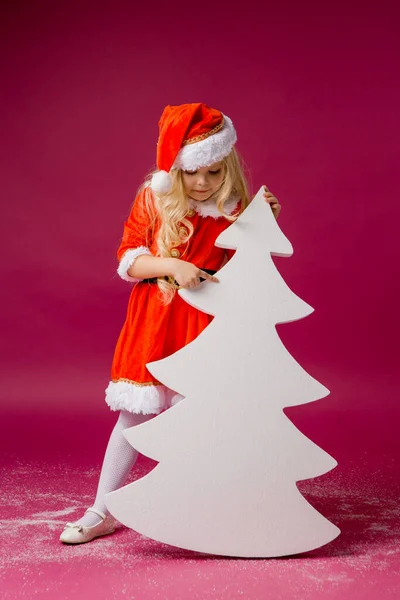
[[[196,171],[219,162],[228,156],[237,139],[229,117],[201,102],[166,106],[158,125],[159,171],[150,184],[158,193],[171,189],[172,169]]]

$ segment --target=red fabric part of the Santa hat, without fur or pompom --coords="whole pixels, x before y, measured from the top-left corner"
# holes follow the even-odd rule
[[[166,106],[158,123],[158,168],[169,172],[185,141],[209,133],[222,120],[223,115],[219,110],[201,102]]]

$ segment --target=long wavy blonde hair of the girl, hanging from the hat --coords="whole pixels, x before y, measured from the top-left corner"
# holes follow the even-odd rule
[[[248,184],[244,175],[245,166],[234,147],[222,162],[225,174],[222,184],[215,194],[216,206],[225,219],[228,221],[235,221],[237,216],[225,213],[224,205],[226,201],[231,198],[232,194],[237,194],[238,200],[240,198],[240,212],[243,212],[249,204]],[[155,172],[156,171],[153,171],[153,173]],[[187,219],[190,206],[185,192],[182,170],[173,169],[170,172],[172,178],[171,190],[168,193],[157,195],[154,194],[154,192],[151,192],[149,187],[153,173],[150,173],[149,177],[140,188],[141,190],[147,188],[150,192],[145,195],[147,208],[152,219],[147,235],[150,236],[151,233],[154,233],[158,221],[160,227],[157,232],[156,240],[157,256],[169,257],[171,256],[171,250],[173,248],[186,244],[185,250],[182,252],[182,256],[184,256],[188,247],[188,242],[193,235],[193,225],[191,221]],[[168,304],[171,302],[176,292],[174,281],[168,281],[167,279],[160,277],[158,278],[158,287],[162,294],[163,303]]]

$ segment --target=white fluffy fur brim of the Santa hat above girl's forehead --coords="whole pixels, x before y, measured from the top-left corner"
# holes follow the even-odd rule
[[[195,171],[200,167],[208,167],[228,156],[236,140],[233,123],[229,117],[224,115],[224,126],[221,131],[200,142],[183,146],[172,168]]]

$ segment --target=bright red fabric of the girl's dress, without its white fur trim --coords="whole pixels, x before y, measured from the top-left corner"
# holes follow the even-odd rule
[[[154,234],[146,240],[146,225],[152,219],[144,208],[141,192],[125,223],[118,256],[128,248],[147,245],[156,254]],[[180,246],[181,259],[198,267],[218,271],[224,262],[226,251],[214,242],[230,222],[224,218],[190,217],[195,233],[187,247]],[[148,243],[146,243],[146,241]],[[193,341],[211,322],[212,317],[187,304],[175,294],[170,304],[162,304],[156,284],[139,282],[133,286],[128,303],[125,323],[115,349],[111,379],[127,379],[135,383],[157,383],[146,369],[146,363],[160,360]]]

